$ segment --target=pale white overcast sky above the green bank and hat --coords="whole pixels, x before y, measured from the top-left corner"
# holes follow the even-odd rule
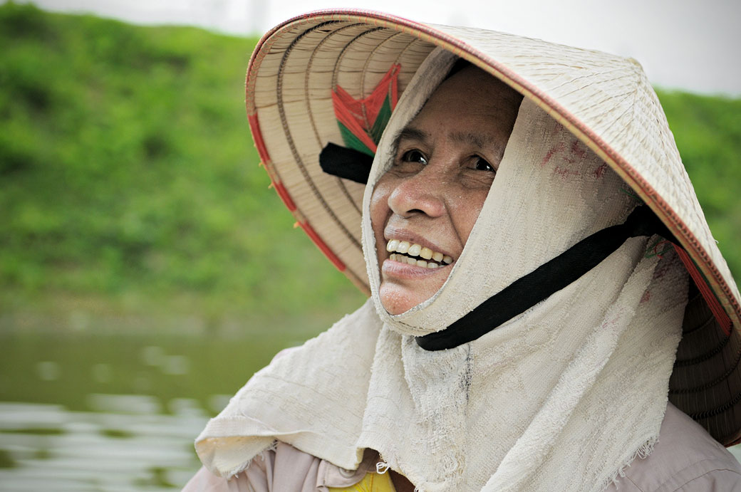
[[[0,0],[4,1],[4,0]],[[136,24],[189,24],[244,35],[329,7],[324,0],[34,0]],[[356,0],[343,7],[502,30],[632,56],[661,87],[741,96],[740,0]]]

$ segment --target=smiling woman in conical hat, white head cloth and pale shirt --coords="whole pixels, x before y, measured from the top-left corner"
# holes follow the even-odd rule
[[[741,490],[708,435],[741,436],[739,294],[635,62],[322,12],[260,41],[247,110],[371,299],[250,379],[187,490]]]

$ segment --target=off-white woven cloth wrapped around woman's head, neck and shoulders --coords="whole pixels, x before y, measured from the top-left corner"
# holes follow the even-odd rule
[[[365,193],[391,141],[442,81],[435,50],[379,144]],[[442,330],[502,288],[637,205],[568,130],[525,99],[488,198],[448,281],[398,316],[378,297],[256,373],[196,439],[202,462],[230,476],[274,439],[342,468],[365,448],[425,492],[601,491],[651,452],[681,336],[687,279],[674,253],[645,237],[481,338],[426,351]],[[652,243],[651,243],[652,244]]]

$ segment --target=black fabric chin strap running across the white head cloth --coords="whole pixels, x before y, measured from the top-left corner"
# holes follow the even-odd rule
[[[444,350],[472,342],[579,279],[631,237],[659,234],[674,239],[647,205],[637,207],[620,225],[599,230],[551,261],[515,280],[445,330],[416,337],[425,350]]]

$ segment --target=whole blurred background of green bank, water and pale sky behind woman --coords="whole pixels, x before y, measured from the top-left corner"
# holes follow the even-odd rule
[[[741,278],[736,4],[386,3],[639,59]],[[245,118],[256,36],[312,9],[0,3],[0,490],[182,487],[229,396],[364,301],[293,229]]]

